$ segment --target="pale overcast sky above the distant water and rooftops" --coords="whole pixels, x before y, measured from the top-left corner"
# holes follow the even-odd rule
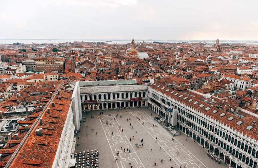
[[[258,40],[257,0],[0,1],[0,39]]]

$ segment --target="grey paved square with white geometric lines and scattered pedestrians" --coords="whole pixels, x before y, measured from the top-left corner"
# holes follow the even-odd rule
[[[97,149],[100,153],[100,168],[125,168],[130,167],[129,163],[133,168],[227,167],[224,164],[213,162],[206,156],[206,149],[203,149],[190,137],[185,141],[187,136],[184,133],[173,137],[153,120],[153,117],[157,114],[148,108],[134,108],[134,110],[127,109],[127,111],[104,110],[103,114],[100,114],[100,112],[102,111],[91,111],[88,114],[83,114],[86,116],[86,122],[81,125],[76,141],[76,144],[79,145],[76,145],[75,148],[75,152]],[[91,118],[91,115],[95,117]],[[128,118],[130,120],[127,120]],[[106,124],[106,121],[108,121],[108,124]],[[158,127],[153,127],[153,124],[158,125]],[[94,131],[91,131],[92,128]],[[174,141],[172,141],[172,138],[174,138]],[[141,139],[143,139],[143,142],[141,142]],[[168,161],[170,157],[172,159]],[[118,161],[115,161],[115,158]],[[164,161],[161,162],[161,159]],[[157,165],[153,166],[155,161]]]

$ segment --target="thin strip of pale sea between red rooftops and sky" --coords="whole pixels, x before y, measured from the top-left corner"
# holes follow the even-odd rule
[[[71,42],[73,43],[74,41],[85,41],[85,42],[104,42],[107,44],[126,44],[126,43],[131,43],[132,40],[83,40],[83,39],[63,39],[63,40],[52,40],[52,39],[0,39],[0,44],[13,44],[13,43],[24,43],[24,44],[32,44],[32,43],[37,43],[37,44],[42,44],[42,43],[64,43],[64,42]],[[108,42],[106,42],[108,41]],[[142,43],[143,40],[134,40],[135,43]],[[182,43],[182,42],[187,42],[187,43],[199,43],[199,42],[206,42],[206,43],[215,43],[216,40],[144,40],[146,43],[152,43],[153,41],[158,41],[158,42],[163,42],[163,43]],[[246,44],[256,44],[258,45],[258,41],[231,41],[231,40],[220,40],[220,43],[246,43]]]

